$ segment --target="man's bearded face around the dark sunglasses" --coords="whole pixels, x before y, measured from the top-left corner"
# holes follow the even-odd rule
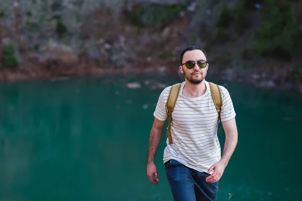
[[[200,84],[204,80],[208,69],[208,64],[206,64],[206,67],[204,69],[199,68],[199,66],[197,65],[197,61],[199,60],[206,61],[206,57],[201,50],[196,49],[186,51],[182,63],[185,63],[187,61],[195,61],[195,66],[193,69],[187,69],[186,64],[183,64],[179,68],[181,73],[185,75],[186,80],[195,85]]]

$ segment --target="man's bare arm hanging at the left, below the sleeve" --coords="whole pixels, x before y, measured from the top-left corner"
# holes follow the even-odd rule
[[[154,164],[154,160],[162,139],[165,123],[166,121],[161,121],[155,118],[150,131],[149,149],[147,156],[147,176],[149,178],[149,181],[154,184],[158,184],[159,182],[159,175],[157,172],[157,168]]]

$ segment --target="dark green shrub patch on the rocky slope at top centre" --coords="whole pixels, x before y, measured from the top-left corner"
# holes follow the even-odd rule
[[[129,22],[137,27],[157,27],[167,26],[173,18],[179,16],[180,12],[186,11],[187,5],[159,5],[148,4],[147,6],[137,6],[133,11],[125,12]]]

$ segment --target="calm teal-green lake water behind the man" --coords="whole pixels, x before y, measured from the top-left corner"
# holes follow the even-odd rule
[[[141,88],[126,86],[134,81]],[[162,161],[165,131],[156,157],[159,185],[146,176],[149,131],[162,91],[152,87],[155,82],[182,79],[1,83],[0,201],[173,200]],[[231,94],[239,130],[217,200],[228,201],[228,193],[232,201],[302,200],[302,95],[216,83]]]

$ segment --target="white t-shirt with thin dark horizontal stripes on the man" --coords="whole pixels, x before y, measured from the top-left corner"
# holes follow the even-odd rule
[[[171,135],[173,144],[164,150],[164,163],[175,159],[187,167],[200,172],[208,169],[221,158],[220,144],[217,138],[218,113],[212,101],[207,81],[206,92],[199,97],[189,98],[182,94],[185,82],[181,84],[179,96],[172,112]],[[171,86],[161,93],[154,116],[166,120],[166,102]],[[221,121],[228,121],[236,116],[228,90],[219,85],[222,97]],[[210,174],[213,171],[210,172]]]

